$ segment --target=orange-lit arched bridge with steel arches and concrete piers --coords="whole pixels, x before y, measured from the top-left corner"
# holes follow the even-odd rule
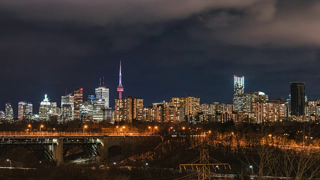
[[[103,162],[111,146],[133,145],[139,141],[159,138],[151,133],[138,132],[0,132],[0,155],[22,146],[38,159],[52,164],[63,163],[74,147]]]

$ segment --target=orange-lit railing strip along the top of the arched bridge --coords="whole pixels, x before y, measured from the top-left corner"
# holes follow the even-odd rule
[[[11,132],[2,131],[0,136],[150,136],[149,132]]]

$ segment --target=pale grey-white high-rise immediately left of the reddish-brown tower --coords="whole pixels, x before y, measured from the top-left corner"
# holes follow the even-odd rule
[[[61,118],[62,121],[73,120],[74,113],[74,96],[61,96]]]

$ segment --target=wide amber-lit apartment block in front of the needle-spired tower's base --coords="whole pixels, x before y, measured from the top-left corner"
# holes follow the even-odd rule
[[[124,99],[114,99],[114,120],[128,121],[142,118],[143,99],[128,96]]]

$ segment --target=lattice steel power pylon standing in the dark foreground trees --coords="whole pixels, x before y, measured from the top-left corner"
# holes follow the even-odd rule
[[[212,145],[208,144],[207,142],[200,143],[198,145],[192,146],[189,149],[198,149],[200,151],[200,156],[195,158],[194,160],[191,160],[189,163],[186,164],[180,164],[179,167],[184,170],[186,170],[186,167],[191,167],[191,169],[194,169],[194,167],[198,170],[198,180],[207,180],[211,179],[211,175],[213,174],[210,171],[210,167],[215,170],[215,168],[219,169],[219,166],[230,167],[228,163],[222,163],[212,157],[209,156],[209,149],[213,149]],[[190,178],[188,176],[187,178]],[[180,178],[179,178],[180,179]]]

